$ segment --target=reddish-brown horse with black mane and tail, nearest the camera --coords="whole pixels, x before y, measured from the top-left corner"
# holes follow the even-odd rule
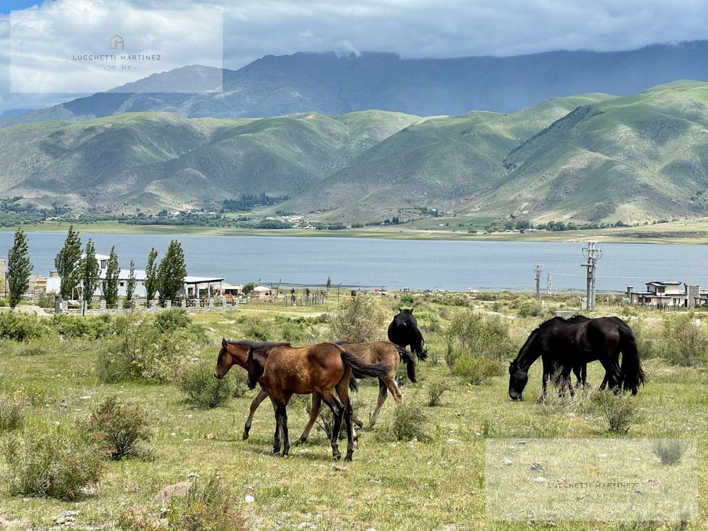
[[[246,358],[243,352],[246,349]],[[355,358],[334,343],[318,343],[294,348],[289,343],[258,343],[254,341],[222,340],[222,349],[217,358],[214,375],[222,378],[234,365],[241,365],[248,372],[248,385],[254,389],[260,384],[268,393],[275,410],[275,435],[273,452],[282,455],[290,451],[290,435],[287,430],[287,403],[293,394],[314,393],[332,411],[332,456],[339,459],[339,430],[342,419],[347,428],[347,454],[350,461],[354,453],[354,428],[348,385],[352,371],[366,377],[381,377],[389,367],[370,365]]]

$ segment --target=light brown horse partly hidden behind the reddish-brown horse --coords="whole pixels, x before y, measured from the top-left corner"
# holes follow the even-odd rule
[[[369,343],[348,343],[347,341],[338,341],[337,344],[345,348],[348,353],[355,355],[363,362],[371,364],[382,363],[384,365],[388,365],[389,367],[387,374],[379,377],[379,399],[376,404],[376,409],[374,410],[374,413],[372,413],[369,420],[369,426],[367,426],[367,429],[372,429],[379,418],[381,408],[386,401],[387,390],[391,392],[396,404],[401,403],[401,392],[399,391],[398,384],[396,384],[396,367],[398,367],[399,362],[403,361],[406,364],[408,379],[411,380],[411,382],[416,383],[416,358],[410,350],[401,348],[393,343],[390,343],[389,341],[371,341]],[[352,376],[355,378],[362,377],[355,371],[352,372]],[[353,389],[353,387],[350,386],[350,389]],[[253,423],[253,415],[256,413],[256,409],[258,409],[258,406],[260,406],[261,402],[263,402],[263,400],[267,397],[268,393],[261,389],[261,392],[258,393],[253,401],[251,401],[249,418],[246,419],[246,424],[244,425],[244,440],[249,438],[251,424]],[[314,423],[317,421],[321,408],[322,401],[319,399],[319,396],[313,395],[309,422],[302,431],[302,435],[300,435],[299,439],[295,441],[295,445],[307,440]],[[354,421],[358,424],[358,426],[363,426],[362,423],[356,418],[354,418]]]

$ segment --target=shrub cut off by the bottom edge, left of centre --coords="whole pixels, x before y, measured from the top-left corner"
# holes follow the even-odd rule
[[[167,511],[171,531],[237,531],[244,518],[234,510],[235,495],[213,474],[201,486],[195,481],[184,498],[172,498]]]

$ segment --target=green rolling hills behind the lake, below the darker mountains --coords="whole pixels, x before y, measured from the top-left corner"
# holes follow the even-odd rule
[[[0,129],[0,189],[30,204],[111,212],[288,195],[273,210],[342,222],[429,209],[644,222],[708,208],[702,81],[552,98],[514,113],[106,114]]]

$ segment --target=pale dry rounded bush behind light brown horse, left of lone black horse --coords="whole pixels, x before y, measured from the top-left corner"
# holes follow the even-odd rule
[[[378,338],[384,319],[376,301],[363,293],[343,297],[331,318],[333,337],[352,343],[365,343]]]

